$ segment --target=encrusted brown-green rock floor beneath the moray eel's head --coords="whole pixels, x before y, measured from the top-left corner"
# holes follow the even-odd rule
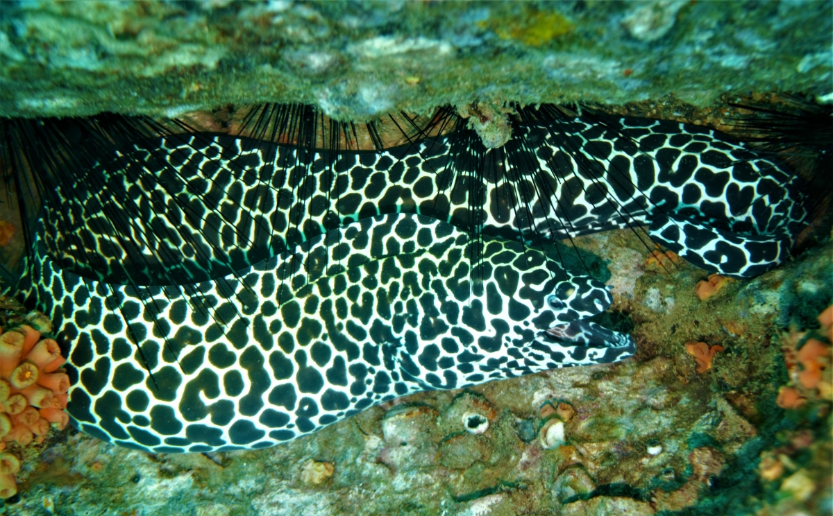
[[[611,270],[610,324],[636,338],[632,360],[414,394],[259,451],[147,454],[70,430],[30,449],[40,457],[24,458],[19,498],[2,510],[829,511],[831,370],[808,389],[796,376],[806,365],[790,357],[833,298],[833,247],[755,280],[710,281],[673,256],[647,256],[627,230],[576,245]]]

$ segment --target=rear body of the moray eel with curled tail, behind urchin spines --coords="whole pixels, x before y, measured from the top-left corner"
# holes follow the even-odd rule
[[[63,187],[67,206],[47,214],[69,229],[47,246],[88,277],[168,285],[406,212],[527,241],[649,225],[686,260],[751,277],[785,260],[803,227],[798,179],[720,133],[631,118],[513,129],[497,150],[446,136],[335,157],[230,136],[144,142]]]

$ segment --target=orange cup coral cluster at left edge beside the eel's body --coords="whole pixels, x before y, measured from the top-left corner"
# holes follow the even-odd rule
[[[42,441],[50,427],[63,429],[69,422],[69,376],[60,369],[67,359],[52,339],[22,325],[0,333],[0,449],[17,441],[26,446]],[[3,458],[13,457],[2,454]],[[2,459],[5,460],[5,459]],[[11,467],[0,460],[0,493],[17,492]],[[11,459],[8,459],[11,460]],[[7,471],[7,469],[9,471]]]

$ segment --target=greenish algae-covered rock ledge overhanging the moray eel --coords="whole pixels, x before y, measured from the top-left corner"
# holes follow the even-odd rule
[[[2,2],[0,114],[831,95],[831,2]]]

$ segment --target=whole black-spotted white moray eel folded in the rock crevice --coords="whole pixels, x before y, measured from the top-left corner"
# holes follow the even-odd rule
[[[805,217],[796,177],[702,127],[519,107],[486,149],[444,110],[364,151],[270,109],[245,137],[99,117],[27,156],[46,179],[20,288],[62,329],[80,429],[257,449],[404,394],[624,360],[631,336],[591,320],[610,289],[543,242],[631,227],[750,277]]]

